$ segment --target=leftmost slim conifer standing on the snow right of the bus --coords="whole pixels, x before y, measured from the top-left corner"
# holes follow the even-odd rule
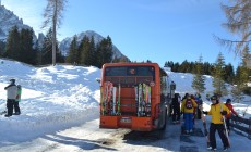
[[[193,77],[192,88],[196,90],[198,93],[203,93],[205,90],[205,77],[203,74],[203,63],[202,56],[199,58],[199,62],[195,64],[195,76]]]

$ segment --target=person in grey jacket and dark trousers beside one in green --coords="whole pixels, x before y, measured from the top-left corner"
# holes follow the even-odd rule
[[[7,114],[5,117],[10,117],[13,114],[13,103],[15,102],[17,94],[17,86],[15,85],[15,79],[10,79],[11,84],[8,85],[4,90],[7,90]]]

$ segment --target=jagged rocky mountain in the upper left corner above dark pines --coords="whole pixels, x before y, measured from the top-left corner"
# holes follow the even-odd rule
[[[23,20],[19,18],[13,12],[0,5],[0,40],[5,41],[9,31],[13,26],[19,29],[32,29],[28,25],[23,24]],[[34,34],[34,40],[36,36]]]

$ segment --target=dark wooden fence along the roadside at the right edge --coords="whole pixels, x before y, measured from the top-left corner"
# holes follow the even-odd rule
[[[248,134],[248,138],[251,139],[251,117],[243,118],[232,115],[230,118],[230,126]]]

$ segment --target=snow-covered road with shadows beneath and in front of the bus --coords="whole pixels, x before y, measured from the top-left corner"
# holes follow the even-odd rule
[[[201,121],[196,121],[196,128],[202,129]],[[84,152],[84,151],[198,151],[206,150],[205,137],[194,134],[180,136],[180,125],[168,124],[165,131],[135,132],[128,129],[99,129],[99,119],[86,122],[80,126],[55,134],[44,135],[31,141],[15,143],[0,148],[1,152]],[[250,141],[246,137],[232,134],[232,143],[241,140]],[[218,138],[218,136],[216,135]],[[220,140],[218,149],[220,149]],[[234,143],[235,145],[236,143]],[[243,145],[248,150],[249,145]],[[232,147],[230,151],[238,151],[239,147]]]

